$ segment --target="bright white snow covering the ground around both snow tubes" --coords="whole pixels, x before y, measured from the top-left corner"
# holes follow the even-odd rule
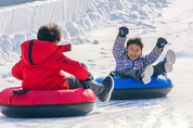
[[[171,92],[159,99],[112,100],[106,105],[97,102],[91,113],[79,117],[22,119],[0,114],[0,128],[193,128],[193,1],[92,1],[93,4],[89,4],[87,9],[80,9],[80,18],[54,21],[62,27],[62,43],[73,43],[73,51],[65,54],[86,63],[94,77],[104,76],[115,67],[112,48],[118,27],[125,25],[130,28],[129,37],[142,38],[144,54],[153,49],[158,37],[165,37],[169,44],[160,60],[168,49],[177,53],[175,69],[168,75],[175,86]],[[33,7],[41,3],[35,2]],[[30,8],[30,4],[27,7]],[[20,7],[14,8],[16,9]],[[46,12],[46,8],[41,10]],[[1,11],[3,9],[0,9],[0,13]],[[73,13],[69,16],[73,17]],[[17,17],[20,18],[20,14]],[[0,21],[2,18],[5,17]],[[13,34],[10,27],[0,34],[0,90],[21,85],[21,81],[12,77],[11,67],[20,59],[20,44],[26,39],[36,38],[37,33],[33,25],[26,25],[31,30],[18,27],[17,33]]]

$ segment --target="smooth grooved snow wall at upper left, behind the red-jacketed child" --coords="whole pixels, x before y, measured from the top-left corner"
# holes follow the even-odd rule
[[[93,2],[94,0],[47,0],[0,8],[0,33],[28,33],[51,22],[78,21]]]

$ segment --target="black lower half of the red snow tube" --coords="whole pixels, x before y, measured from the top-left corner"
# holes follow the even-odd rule
[[[74,104],[51,105],[5,105],[0,104],[1,113],[15,118],[50,118],[86,115],[94,108],[95,101]]]

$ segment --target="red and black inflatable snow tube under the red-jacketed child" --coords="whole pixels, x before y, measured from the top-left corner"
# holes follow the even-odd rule
[[[95,94],[90,89],[30,90],[12,94],[21,87],[8,88],[0,92],[0,112],[8,117],[40,118],[80,116],[91,112]]]

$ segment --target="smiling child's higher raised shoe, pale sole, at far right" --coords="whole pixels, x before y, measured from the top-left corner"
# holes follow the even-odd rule
[[[166,57],[164,60],[164,67],[166,73],[172,72],[172,65],[175,64],[176,61],[176,54],[172,50],[168,50],[166,53]]]

